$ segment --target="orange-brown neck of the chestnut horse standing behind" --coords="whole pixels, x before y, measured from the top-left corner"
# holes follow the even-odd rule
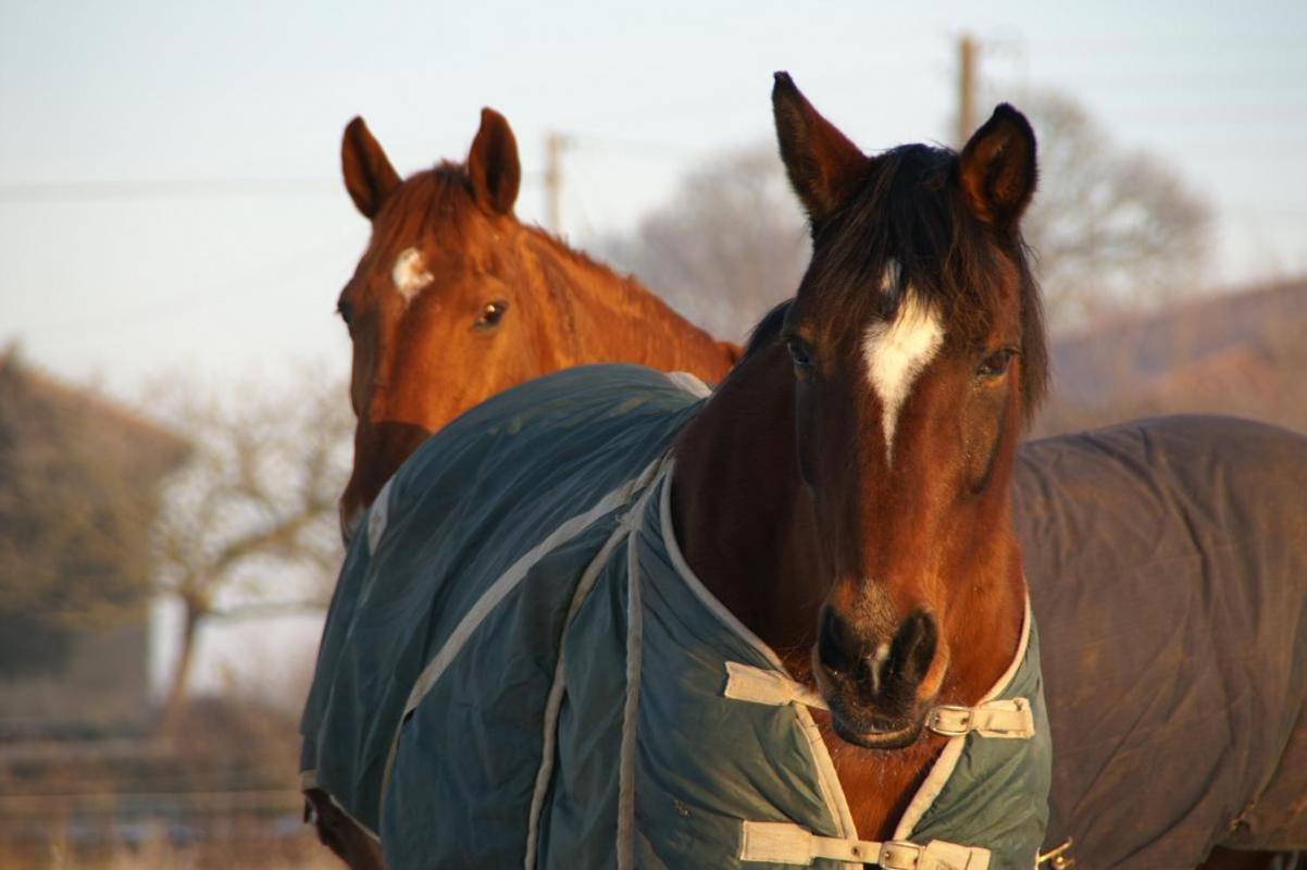
[[[558,367],[634,362],[663,371],[689,371],[718,381],[738,353],[676,314],[650,290],[567,250],[542,231],[525,229],[523,247],[555,308],[566,342]]]

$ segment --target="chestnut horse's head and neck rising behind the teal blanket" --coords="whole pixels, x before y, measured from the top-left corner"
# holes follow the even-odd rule
[[[507,387],[589,362],[716,381],[738,354],[634,280],[519,222],[518,145],[490,108],[467,163],[400,180],[361,118],[345,128],[341,163],[372,223],[337,306],[354,346],[358,417],[340,500],[346,537],[427,435]]]

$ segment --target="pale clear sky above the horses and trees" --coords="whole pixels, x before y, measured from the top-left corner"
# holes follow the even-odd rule
[[[1210,286],[1307,270],[1300,1],[623,7],[0,0],[0,345],[127,398],[342,374],[335,299],[369,229],[340,182],[354,115],[408,174],[501,110],[528,221],[544,138],[570,136],[584,246],[770,140],[775,69],[867,150],[948,140],[963,33],[991,101],[1065,90],[1213,201]]]

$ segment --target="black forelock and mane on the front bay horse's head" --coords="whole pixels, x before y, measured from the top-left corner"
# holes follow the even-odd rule
[[[876,287],[887,257],[902,268],[924,299],[951,315],[963,314],[963,329],[979,333],[988,311],[979,290],[1010,280],[1021,293],[1022,395],[1026,419],[1048,384],[1048,350],[1039,290],[1026,246],[1017,231],[999,231],[972,216],[957,188],[955,152],[903,145],[872,162],[860,192],[816,230],[814,257],[805,283],[840,291],[855,282]],[[863,294],[868,304],[890,307],[881,294]],[[884,314],[889,314],[887,311]]]

